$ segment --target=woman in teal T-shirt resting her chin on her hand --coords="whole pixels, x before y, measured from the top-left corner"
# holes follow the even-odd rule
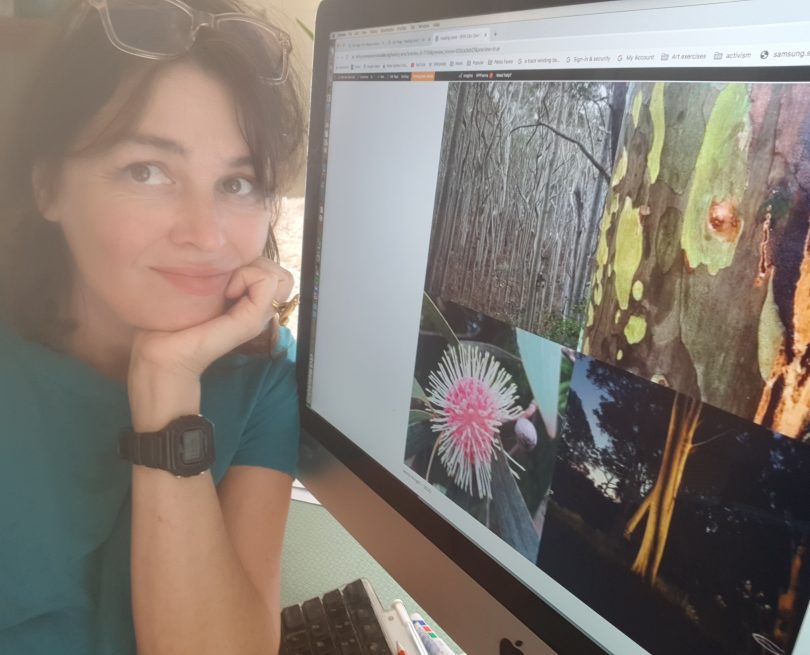
[[[237,0],[76,4],[0,196],[0,652],[275,652],[289,40]]]

